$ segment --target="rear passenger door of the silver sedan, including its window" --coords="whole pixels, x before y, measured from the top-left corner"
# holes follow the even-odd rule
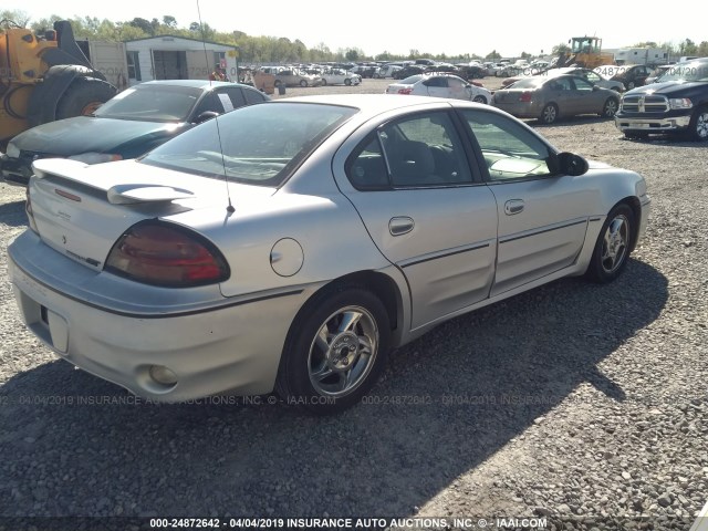
[[[382,125],[345,171],[368,233],[407,279],[412,329],[489,296],[497,205],[479,169],[471,171],[449,112]]]

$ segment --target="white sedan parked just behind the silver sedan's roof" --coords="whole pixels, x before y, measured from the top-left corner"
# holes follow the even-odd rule
[[[454,97],[477,103],[491,103],[491,92],[472,85],[457,75],[418,74],[406,77],[386,87],[386,94]]]

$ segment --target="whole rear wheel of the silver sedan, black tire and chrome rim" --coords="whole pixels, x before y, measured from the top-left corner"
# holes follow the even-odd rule
[[[389,343],[388,313],[376,295],[353,284],[325,289],[288,333],[278,394],[316,414],[342,412],[374,385]]]

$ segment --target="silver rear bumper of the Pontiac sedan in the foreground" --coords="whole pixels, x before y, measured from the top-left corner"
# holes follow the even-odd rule
[[[35,251],[25,252],[32,246],[45,247],[28,231],[9,247],[9,277],[28,329],[65,361],[154,402],[270,393],[290,325],[310,294],[302,289],[250,294],[190,312],[176,312],[180,304],[175,300],[162,311],[124,313],[58,288],[27,258],[37,258]],[[86,268],[64,264],[49,248],[42,252],[58,275],[67,274],[76,284],[98,285],[100,275],[107,274],[87,272],[93,281],[84,281],[76,269]],[[175,383],[154,376],[162,367],[175,375]]]

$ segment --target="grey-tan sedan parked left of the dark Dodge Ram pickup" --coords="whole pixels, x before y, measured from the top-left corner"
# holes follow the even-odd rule
[[[561,116],[580,114],[611,118],[617,112],[620,94],[575,75],[537,75],[496,91],[492,104],[518,118],[552,124]]]

